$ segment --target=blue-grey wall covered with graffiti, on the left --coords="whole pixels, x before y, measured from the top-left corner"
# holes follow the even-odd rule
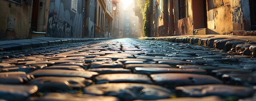
[[[71,11],[71,0],[51,0],[48,19],[49,37],[83,37],[83,0],[77,12]]]

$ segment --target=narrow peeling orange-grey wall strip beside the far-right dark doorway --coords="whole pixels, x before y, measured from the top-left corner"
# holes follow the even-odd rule
[[[236,31],[250,30],[249,0],[231,0],[231,8],[234,35]]]

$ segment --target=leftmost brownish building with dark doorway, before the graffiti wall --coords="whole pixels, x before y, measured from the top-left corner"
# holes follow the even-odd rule
[[[37,37],[31,31],[47,32],[49,5],[50,0],[0,0],[0,40]]]

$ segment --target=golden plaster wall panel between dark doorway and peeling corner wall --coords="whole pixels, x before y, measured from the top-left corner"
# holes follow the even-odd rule
[[[207,0],[207,34],[233,32],[231,0]]]

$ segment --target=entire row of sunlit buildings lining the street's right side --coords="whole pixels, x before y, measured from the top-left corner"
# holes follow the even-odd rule
[[[137,1],[137,0],[136,0]],[[256,35],[254,0],[151,0],[150,37]],[[140,9],[135,9],[137,12]]]

